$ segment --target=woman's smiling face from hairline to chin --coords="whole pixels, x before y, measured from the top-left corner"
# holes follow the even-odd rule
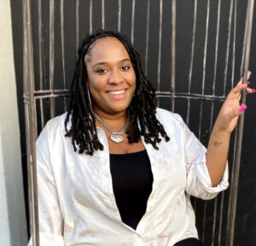
[[[115,37],[103,37],[92,44],[84,62],[95,112],[125,112],[136,89],[136,75],[125,46]]]

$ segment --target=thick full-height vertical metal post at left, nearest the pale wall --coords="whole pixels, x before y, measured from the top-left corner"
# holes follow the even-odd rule
[[[30,204],[30,228],[32,243],[39,245],[38,221],[38,181],[36,165],[36,132],[35,132],[35,100],[34,93],[34,64],[32,46],[32,19],[30,0],[23,1],[23,30],[24,30],[24,99],[26,113],[26,147]]]

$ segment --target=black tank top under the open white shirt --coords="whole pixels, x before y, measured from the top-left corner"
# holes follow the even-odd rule
[[[147,152],[110,154],[113,194],[123,222],[136,230],[147,209],[153,174]]]

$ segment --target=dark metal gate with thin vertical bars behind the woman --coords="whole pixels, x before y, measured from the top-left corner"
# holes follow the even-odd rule
[[[225,95],[248,69],[253,0],[247,4],[238,0],[190,2],[23,0],[24,101],[33,245],[39,245],[35,140],[49,118],[67,110],[75,51],[87,32],[98,27],[125,32],[143,54],[145,72],[157,90],[157,105],[180,113],[189,128],[207,144]],[[241,12],[246,18],[238,26],[237,14]],[[242,126],[243,117],[230,145],[230,190],[208,202],[192,198],[199,235],[205,245],[234,244]]]

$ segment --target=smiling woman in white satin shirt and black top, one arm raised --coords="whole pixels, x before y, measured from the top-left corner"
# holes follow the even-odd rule
[[[230,134],[246,108],[241,90],[254,92],[247,84],[224,101],[206,150],[181,117],[154,106],[123,35],[87,37],[70,109],[37,141],[41,245],[201,245],[189,196],[227,188]]]

